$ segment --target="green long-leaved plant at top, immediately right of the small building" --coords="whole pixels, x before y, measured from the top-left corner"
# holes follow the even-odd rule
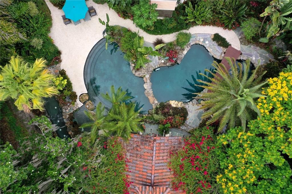
[[[196,22],[197,24],[202,24],[204,21],[209,22],[212,17],[211,9],[206,6],[206,4],[199,1],[195,8],[193,8],[191,1],[189,1],[189,6],[185,6],[185,12],[187,16],[181,16],[180,18],[187,20],[187,22]]]

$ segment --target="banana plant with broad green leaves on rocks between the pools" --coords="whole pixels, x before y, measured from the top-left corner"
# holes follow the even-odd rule
[[[135,69],[139,69],[141,67],[145,67],[145,64],[150,62],[146,57],[148,55],[152,56],[162,56],[157,50],[161,47],[165,46],[165,44],[159,44],[155,46],[155,50],[152,47],[144,46],[144,38],[136,36],[134,39],[134,49],[132,50],[132,60],[136,61]]]

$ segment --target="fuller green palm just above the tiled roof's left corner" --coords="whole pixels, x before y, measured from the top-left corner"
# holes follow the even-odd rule
[[[108,124],[105,131],[107,135],[117,135],[125,139],[131,138],[131,133],[137,133],[140,130],[138,124],[141,121],[139,111],[135,111],[135,103],[126,105],[121,103],[115,112],[109,112],[107,116]]]

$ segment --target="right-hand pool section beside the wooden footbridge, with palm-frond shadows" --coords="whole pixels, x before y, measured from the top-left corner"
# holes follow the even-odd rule
[[[155,98],[158,102],[192,99],[192,93],[203,90],[194,86],[197,79],[202,79],[199,72],[210,69],[214,60],[203,46],[192,45],[179,65],[152,72],[150,81]]]

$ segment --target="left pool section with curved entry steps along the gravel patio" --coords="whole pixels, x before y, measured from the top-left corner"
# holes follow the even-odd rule
[[[84,66],[84,82],[89,100],[94,105],[102,102],[106,107],[111,107],[100,94],[109,92],[110,87],[114,85],[116,89],[122,87],[128,95],[133,96],[132,100],[139,103],[138,106],[142,106],[143,111],[152,109],[144,94],[144,80],[132,73],[129,62],[124,59],[124,54],[117,44],[109,44],[105,50],[104,38],[96,43],[88,54]]]

